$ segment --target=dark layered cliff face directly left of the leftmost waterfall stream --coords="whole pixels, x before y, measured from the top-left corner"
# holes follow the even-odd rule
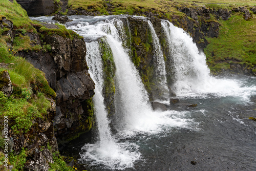
[[[45,25],[49,28],[56,25]],[[39,29],[39,28],[38,28]],[[56,92],[56,137],[68,139],[88,131],[94,122],[88,112],[88,101],[94,95],[94,82],[88,74],[86,46],[83,39],[60,35],[44,36],[30,33],[32,40],[50,45],[50,52],[19,52],[46,74],[49,86]],[[91,107],[90,107],[91,108]],[[81,126],[80,124],[84,124]]]

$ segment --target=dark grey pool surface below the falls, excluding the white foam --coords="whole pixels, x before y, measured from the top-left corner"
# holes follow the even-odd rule
[[[197,103],[196,108],[169,105],[170,112],[188,111],[181,117],[192,119],[190,126],[165,127],[157,134],[138,133],[120,138],[120,142],[136,143],[141,153],[134,167],[124,170],[256,170],[256,122],[248,119],[256,117],[255,101],[252,102],[256,79],[232,78],[243,82],[245,92],[241,96],[183,96],[181,102]],[[84,135],[69,145],[71,151],[65,148],[65,153],[79,156],[85,141],[96,140]],[[104,165],[86,165],[84,169],[115,170]]]

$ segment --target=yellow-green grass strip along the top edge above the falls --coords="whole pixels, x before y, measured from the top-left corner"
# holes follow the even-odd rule
[[[172,16],[184,16],[183,13],[179,12],[176,7],[180,7],[182,5],[196,8],[196,6],[192,6],[191,4],[197,4],[200,6],[205,5],[208,8],[212,9],[220,9],[227,8],[231,9],[233,7],[238,6],[256,6],[256,1],[231,1],[231,0],[215,0],[215,1],[156,1],[156,0],[112,0],[112,1],[104,1],[104,0],[69,0],[69,7],[71,9],[83,9],[89,12],[99,11],[101,15],[109,15],[112,14],[130,14],[130,15],[144,15],[144,12],[151,11],[152,13],[158,14],[158,17],[164,17],[168,19],[172,19]],[[108,5],[110,6],[108,8]]]

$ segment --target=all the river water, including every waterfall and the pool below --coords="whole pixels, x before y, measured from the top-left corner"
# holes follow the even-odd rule
[[[166,68],[174,71],[172,89],[183,103],[166,104],[168,111],[153,111],[138,71],[130,57],[124,32],[127,16],[69,16],[66,23],[86,40],[87,62],[95,81],[97,131],[66,145],[63,154],[77,156],[88,170],[255,170],[256,78],[243,75],[210,76],[205,56],[182,29],[162,20],[172,65],[164,65],[161,47],[148,18],[156,69],[168,99]],[[136,16],[133,16],[136,17]],[[52,17],[32,19],[53,22]],[[111,133],[102,87],[102,59],[98,39],[114,58],[116,134]],[[187,62],[189,61],[189,62]],[[89,135],[90,134],[90,135]]]

